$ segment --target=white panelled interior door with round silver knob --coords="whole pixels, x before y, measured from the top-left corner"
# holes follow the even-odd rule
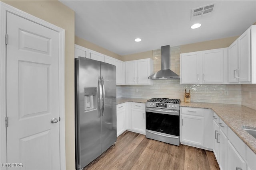
[[[59,34],[10,13],[7,34],[7,162],[60,169]]]

